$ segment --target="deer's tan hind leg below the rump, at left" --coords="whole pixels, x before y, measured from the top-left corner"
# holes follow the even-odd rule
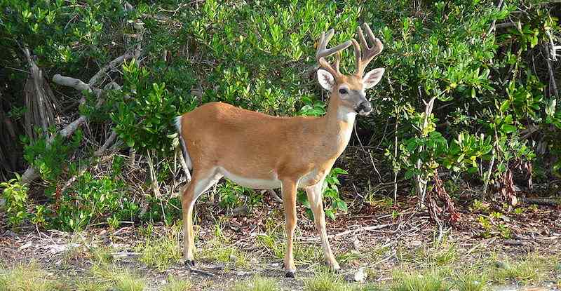
[[[195,202],[210,186],[218,182],[222,176],[215,170],[194,170],[193,177],[182,194],[183,214],[183,257],[185,264],[194,266],[195,236],[193,233],[193,208]]]

